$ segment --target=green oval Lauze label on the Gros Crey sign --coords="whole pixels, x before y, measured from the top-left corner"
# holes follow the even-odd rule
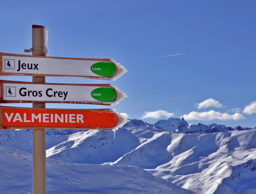
[[[101,102],[113,102],[116,99],[114,88],[96,88],[91,92],[91,96]]]

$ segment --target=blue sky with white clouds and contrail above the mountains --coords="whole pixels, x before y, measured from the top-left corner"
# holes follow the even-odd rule
[[[110,58],[128,70],[116,81],[46,77],[48,83],[110,83],[129,95],[111,107],[47,108],[113,108],[149,123],[184,116],[189,124],[256,126],[253,0],[14,0],[1,1],[0,18],[0,52],[25,54],[31,25],[44,25],[49,56]]]

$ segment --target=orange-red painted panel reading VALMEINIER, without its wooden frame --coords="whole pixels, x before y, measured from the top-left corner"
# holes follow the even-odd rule
[[[2,109],[3,126],[114,127],[117,116],[108,111]]]

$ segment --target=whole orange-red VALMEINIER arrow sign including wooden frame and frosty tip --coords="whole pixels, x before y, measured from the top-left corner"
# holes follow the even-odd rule
[[[51,109],[0,106],[0,129],[80,128],[115,130],[126,122],[111,109]]]

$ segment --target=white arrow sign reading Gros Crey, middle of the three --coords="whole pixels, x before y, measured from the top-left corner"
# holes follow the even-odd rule
[[[110,84],[54,84],[0,80],[0,103],[116,105],[127,97]]]

